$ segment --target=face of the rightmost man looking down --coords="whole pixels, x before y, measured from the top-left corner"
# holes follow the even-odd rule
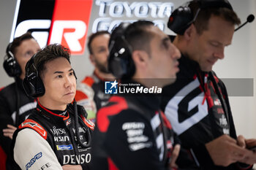
[[[208,24],[208,30],[203,34],[194,34],[192,51],[188,54],[204,72],[210,72],[214,63],[224,58],[225,47],[231,44],[235,28],[232,23],[216,16],[211,16]]]

